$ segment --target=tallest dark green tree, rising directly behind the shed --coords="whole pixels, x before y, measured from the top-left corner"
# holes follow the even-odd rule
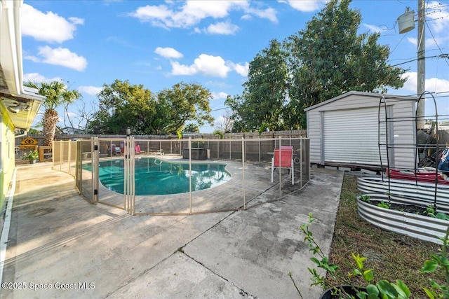
[[[285,41],[288,62],[291,128],[305,127],[304,109],[349,90],[387,92],[401,88],[404,69],[387,64],[389,47],[380,34],[357,34],[361,13],[351,0],[332,0],[307,26]]]

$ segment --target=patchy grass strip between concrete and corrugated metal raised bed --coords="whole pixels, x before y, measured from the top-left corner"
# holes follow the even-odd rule
[[[330,263],[339,265],[343,273],[352,272],[351,252],[359,253],[367,258],[366,268],[374,269],[375,282],[401,279],[410,288],[411,298],[427,298],[422,288],[430,287],[429,278],[443,284],[444,274],[437,271],[424,275],[420,269],[440,246],[382,230],[363,220],[358,216],[357,195],[357,177],[345,174],[330,247]],[[327,283],[335,285],[341,281],[331,281],[327,277]]]

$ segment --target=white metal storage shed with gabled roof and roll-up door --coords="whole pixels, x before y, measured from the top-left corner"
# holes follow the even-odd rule
[[[416,100],[351,91],[304,109],[310,162],[387,167],[388,151],[391,168],[414,168]]]

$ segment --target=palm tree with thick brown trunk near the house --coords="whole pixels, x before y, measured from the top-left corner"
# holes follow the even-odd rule
[[[62,104],[69,104],[79,99],[81,93],[78,90],[69,90],[60,81],[51,81],[49,83],[27,81],[24,85],[29,88],[36,88],[39,90],[39,95],[46,97],[43,101],[43,108],[45,109],[42,120],[43,145],[51,146],[59,120],[58,112],[55,109]]]

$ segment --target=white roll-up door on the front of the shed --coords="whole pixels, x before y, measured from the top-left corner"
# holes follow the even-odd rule
[[[378,108],[325,111],[323,147],[325,162],[380,165]],[[384,113],[380,113],[380,144],[385,144]],[[382,163],[387,162],[386,146],[381,146]]]

